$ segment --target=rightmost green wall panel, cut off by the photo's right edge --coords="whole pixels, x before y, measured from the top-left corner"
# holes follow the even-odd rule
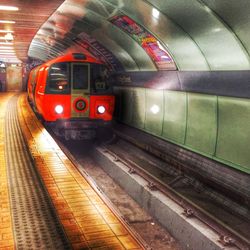
[[[250,168],[250,100],[219,97],[216,156]]]

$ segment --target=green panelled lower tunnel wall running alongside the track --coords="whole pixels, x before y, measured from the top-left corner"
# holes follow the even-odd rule
[[[119,121],[250,173],[249,99],[138,86],[114,91]]]

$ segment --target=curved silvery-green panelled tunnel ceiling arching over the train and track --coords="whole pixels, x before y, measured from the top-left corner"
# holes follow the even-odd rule
[[[249,25],[248,0],[66,0],[28,55],[81,50],[126,71],[249,70]]]

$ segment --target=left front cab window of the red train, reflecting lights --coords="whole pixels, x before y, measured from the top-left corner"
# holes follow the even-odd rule
[[[48,92],[55,94],[70,93],[68,63],[55,63],[50,67],[48,76]]]

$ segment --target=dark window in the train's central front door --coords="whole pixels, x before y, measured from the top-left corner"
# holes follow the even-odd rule
[[[72,82],[74,89],[89,89],[89,66],[86,64],[73,64]]]

